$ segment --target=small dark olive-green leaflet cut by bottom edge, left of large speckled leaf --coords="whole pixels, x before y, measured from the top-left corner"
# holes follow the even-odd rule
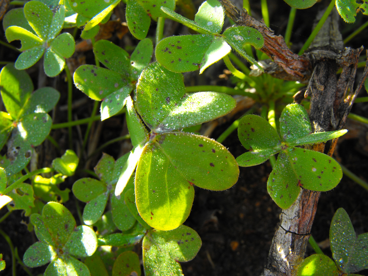
[[[125,251],[114,262],[112,276],[141,276],[141,265],[137,253]]]

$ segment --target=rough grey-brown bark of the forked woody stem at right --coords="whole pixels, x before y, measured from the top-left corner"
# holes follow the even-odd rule
[[[274,62],[263,61],[263,69],[273,77],[286,80],[308,82],[305,96],[311,96],[309,118],[315,132],[342,129],[347,114],[350,112],[357,92],[360,90],[367,68],[357,90],[353,92],[353,84],[361,49],[343,49],[342,36],[338,29],[337,11],[330,14],[318,36],[302,56],[292,53],[282,36],[276,36],[265,24],[252,18],[243,10],[238,10],[229,0],[220,0],[225,13],[236,24],[257,29],[265,40],[260,49]],[[317,15],[322,16],[322,13]],[[343,71],[337,79],[337,70]],[[347,91],[350,95],[346,98]],[[302,99],[299,92],[294,97],[296,102]],[[337,124],[336,121],[339,123]],[[336,146],[337,139],[328,144],[326,151],[330,156]],[[325,144],[310,147],[315,151],[325,152]],[[274,234],[263,275],[293,276],[297,266],[304,259],[308,239],[317,209],[320,192],[301,189],[297,200],[290,208],[280,214],[280,222]]]

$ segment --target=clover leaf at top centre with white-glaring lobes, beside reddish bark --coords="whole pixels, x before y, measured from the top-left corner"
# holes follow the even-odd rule
[[[156,46],[155,55],[158,62],[165,68],[174,72],[199,69],[201,74],[208,66],[229,54],[233,47],[241,56],[263,71],[256,60],[244,50],[245,44],[251,44],[256,49],[260,49],[263,46],[262,34],[248,26],[234,26],[220,35],[224,22],[224,10],[219,1],[208,0],[202,3],[194,21],[168,8],[161,9],[174,20],[202,33],[162,39]]]

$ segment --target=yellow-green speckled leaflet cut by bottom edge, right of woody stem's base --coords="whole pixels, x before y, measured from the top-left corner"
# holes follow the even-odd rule
[[[297,268],[297,276],[339,276],[340,272],[328,256],[313,254],[305,258]]]

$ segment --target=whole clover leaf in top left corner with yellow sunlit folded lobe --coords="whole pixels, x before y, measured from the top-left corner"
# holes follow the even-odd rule
[[[18,11],[18,14],[21,12]],[[10,15],[9,18],[14,15]],[[29,1],[24,5],[24,17],[34,33],[29,31],[24,20],[20,21],[20,26],[8,26],[5,31],[9,42],[21,40],[22,43],[20,50],[23,53],[15,62],[15,68],[22,70],[31,67],[45,53],[43,62],[45,73],[49,77],[55,77],[63,70],[65,58],[70,57],[75,49],[75,42],[70,33],[57,36],[64,23],[64,5],[56,8],[53,13],[45,4]]]

